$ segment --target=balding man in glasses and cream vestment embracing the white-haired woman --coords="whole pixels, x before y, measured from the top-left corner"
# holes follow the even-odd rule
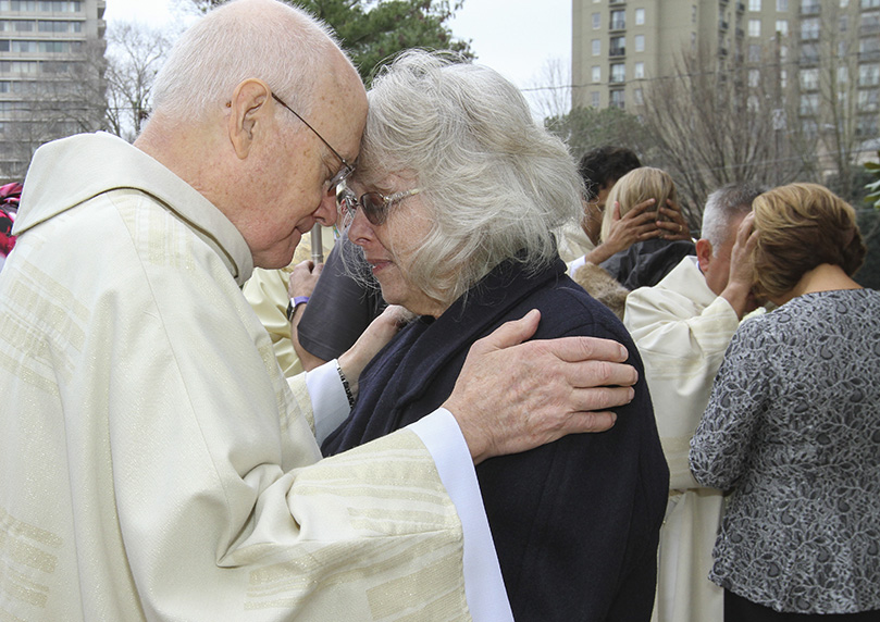
[[[509,620],[473,464],[610,427],[625,349],[521,344],[533,312],[443,408],[322,460],[393,327],[293,391],[240,287],[333,224],[360,78],[303,13],[236,0],[154,95],[134,146],[74,136],[28,172],[0,275],[0,619]]]

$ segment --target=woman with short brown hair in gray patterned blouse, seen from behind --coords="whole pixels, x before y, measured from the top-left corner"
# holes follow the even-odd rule
[[[754,201],[755,291],[691,441],[731,490],[709,579],[726,622],[880,619],[880,293],[855,211],[792,184]]]

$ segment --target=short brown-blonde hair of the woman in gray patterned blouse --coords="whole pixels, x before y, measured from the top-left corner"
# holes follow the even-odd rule
[[[865,261],[855,210],[818,184],[790,184],[753,203],[758,242],[754,252],[755,290],[776,297],[823,263],[852,276]]]

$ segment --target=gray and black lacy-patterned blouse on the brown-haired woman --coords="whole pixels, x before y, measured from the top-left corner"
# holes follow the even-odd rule
[[[880,609],[880,293],[743,323],[690,459],[732,489],[711,581],[777,611]]]

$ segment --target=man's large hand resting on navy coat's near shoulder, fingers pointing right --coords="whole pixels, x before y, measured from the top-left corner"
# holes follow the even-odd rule
[[[562,337],[526,341],[533,310],[472,347],[449,399],[474,463],[518,453],[568,434],[604,432],[629,403],[639,378],[623,364],[627,349],[608,339]]]

